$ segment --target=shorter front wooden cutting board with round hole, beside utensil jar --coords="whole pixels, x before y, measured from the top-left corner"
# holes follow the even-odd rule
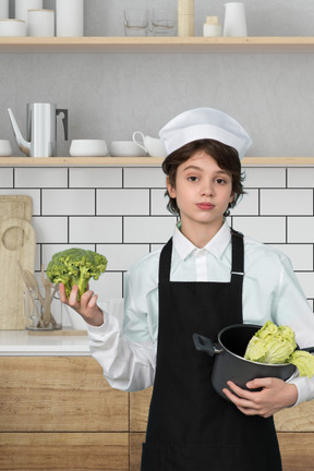
[[[17,234],[17,238],[14,235]],[[17,261],[34,271],[36,239],[32,225],[20,218],[0,222],[0,329],[24,330],[24,290]]]

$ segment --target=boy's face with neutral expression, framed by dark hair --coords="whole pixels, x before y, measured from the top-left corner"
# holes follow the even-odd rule
[[[169,195],[177,198],[181,230],[185,235],[197,232],[200,225],[207,227],[212,234],[216,233],[233,200],[232,177],[203,150],[178,167],[174,186],[167,178],[167,189]]]

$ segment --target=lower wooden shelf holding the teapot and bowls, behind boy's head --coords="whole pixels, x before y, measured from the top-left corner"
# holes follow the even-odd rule
[[[160,167],[158,157],[0,157],[0,167]],[[244,157],[243,167],[314,167],[314,157]]]

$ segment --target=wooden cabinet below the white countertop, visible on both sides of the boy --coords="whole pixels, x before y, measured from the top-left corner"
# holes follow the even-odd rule
[[[0,357],[0,470],[140,471],[152,388],[112,389],[90,357]],[[276,414],[283,471],[312,471],[314,402]]]

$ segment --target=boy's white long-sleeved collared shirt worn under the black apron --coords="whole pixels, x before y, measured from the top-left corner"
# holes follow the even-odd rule
[[[161,250],[161,249],[160,249]],[[88,326],[90,351],[109,384],[140,390],[154,384],[158,335],[158,267],[160,250],[126,274],[124,322],[105,310],[100,327]],[[231,234],[225,222],[203,249],[176,227],[170,280],[229,281]],[[314,314],[289,258],[276,249],[244,237],[243,322],[289,325],[300,348],[314,343]],[[100,306],[101,307],[101,306]],[[314,398],[314,376],[293,377],[298,402]]]

